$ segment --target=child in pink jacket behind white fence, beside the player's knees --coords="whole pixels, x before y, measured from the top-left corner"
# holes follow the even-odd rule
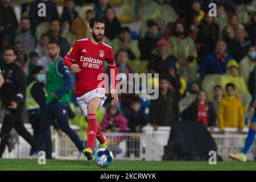
[[[102,130],[105,131],[126,131],[127,119],[122,114],[119,114],[117,107],[114,105],[108,106],[106,114],[101,123]]]

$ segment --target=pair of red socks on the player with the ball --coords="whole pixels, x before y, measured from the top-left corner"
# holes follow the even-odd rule
[[[105,138],[103,137],[103,134],[101,133],[101,127],[98,126],[96,114],[92,114],[92,113],[88,114],[86,120],[88,122],[87,147],[89,147],[93,150],[96,137],[100,141],[100,143],[104,143]]]

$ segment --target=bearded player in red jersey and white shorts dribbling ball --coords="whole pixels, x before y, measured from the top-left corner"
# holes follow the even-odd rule
[[[93,158],[93,148],[96,138],[100,141],[100,147],[106,148],[106,137],[101,133],[96,112],[104,104],[105,88],[102,85],[103,78],[98,76],[103,73],[104,62],[112,69],[111,89],[114,102],[118,102],[117,95],[117,67],[114,61],[112,47],[102,42],[104,38],[105,21],[101,18],[90,20],[90,38],[77,40],[69,49],[64,58],[64,64],[76,73],[76,97],[82,114],[88,122],[87,148],[83,151],[88,160]],[[107,84],[106,84],[107,85]]]

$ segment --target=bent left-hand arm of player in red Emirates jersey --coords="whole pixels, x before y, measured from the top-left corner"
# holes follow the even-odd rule
[[[73,72],[78,73],[81,71],[79,68],[79,65],[76,64],[76,56],[77,52],[79,51],[78,43],[77,41],[73,46],[69,49],[67,55],[64,57],[63,63],[66,67],[70,68]]]

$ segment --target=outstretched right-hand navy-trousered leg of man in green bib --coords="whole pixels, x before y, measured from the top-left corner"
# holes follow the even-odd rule
[[[76,131],[72,130],[68,123],[68,106],[56,106],[54,109],[52,109],[56,119],[57,123],[60,126],[60,129],[68,135],[68,137],[72,140],[73,143],[75,143],[76,147],[79,149],[80,152],[84,150],[84,147],[82,146],[82,142],[79,139],[79,136],[77,135]]]

